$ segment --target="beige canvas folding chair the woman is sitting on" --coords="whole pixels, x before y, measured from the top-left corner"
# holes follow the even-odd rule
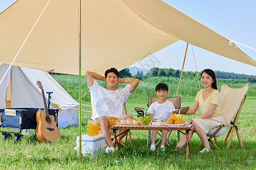
[[[222,117],[224,117],[225,124],[216,124],[207,133],[207,136],[209,137],[208,141],[211,142],[214,147],[217,147],[217,144],[218,144],[216,137],[219,137],[222,134],[224,134],[225,130],[228,127],[230,127],[230,129],[229,129],[228,134],[226,135],[226,139],[225,139],[223,145],[228,140],[230,132],[232,131],[230,138],[229,138],[228,146],[227,146],[227,148],[229,148],[230,142],[231,142],[233,134],[234,134],[234,130],[236,130],[239,144],[241,147],[243,147],[240,135],[238,133],[237,121],[238,121],[238,117],[239,117],[241,109],[242,109],[242,105],[245,102],[246,92],[247,92],[248,88],[249,87],[247,84],[245,84],[245,86],[243,86],[241,88],[230,88],[226,85],[221,86],[220,112],[222,114]],[[240,105],[240,107],[239,107],[239,105]],[[238,110],[237,110],[237,108],[238,108]],[[232,122],[232,118],[233,118],[234,114],[236,113],[236,111],[237,111],[237,114],[234,118],[234,121]],[[216,142],[216,144],[212,141],[212,138],[214,138],[214,141]],[[200,145],[201,145],[201,143],[200,143]]]

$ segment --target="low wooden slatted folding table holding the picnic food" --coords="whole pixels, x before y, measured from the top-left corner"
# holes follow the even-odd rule
[[[187,143],[187,157],[189,155],[189,142],[188,142],[188,131],[192,130],[192,124],[189,125],[127,125],[127,124],[117,124],[110,127],[113,130],[115,136],[115,147],[118,149],[117,141],[117,130],[185,130],[186,143]]]

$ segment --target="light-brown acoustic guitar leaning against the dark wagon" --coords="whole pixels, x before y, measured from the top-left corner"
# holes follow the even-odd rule
[[[55,124],[54,116],[49,115],[42,83],[37,81],[36,84],[38,84],[39,88],[42,90],[44,101],[44,111],[39,109],[39,111],[36,113],[36,137],[40,142],[56,142],[60,139],[60,131]]]

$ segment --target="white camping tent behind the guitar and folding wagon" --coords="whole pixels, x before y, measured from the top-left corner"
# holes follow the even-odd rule
[[[9,65],[0,63],[0,79]],[[58,108],[59,127],[78,126],[76,106],[78,103],[45,71],[11,66],[0,84],[0,108],[44,108],[42,91],[36,81],[42,82],[44,92],[52,91],[50,108]],[[45,94],[48,101],[48,94]]]

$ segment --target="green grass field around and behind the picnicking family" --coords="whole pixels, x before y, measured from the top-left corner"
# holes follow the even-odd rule
[[[78,99],[78,80],[77,76],[54,75],[54,78],[71,94],[74,99]],[[155,82],[153,82],[155,80]],[[152,78],[150,82],[145,81],[139,84],[138,89],[126,101],[127,111],[134,117],[137,117],[134,107],[147,108],[147,97],[154,96],[154,86],[157,82],[170,81],[170,88],[173,90],[170,96],[176,95],[176,79]],[[83,80],[85,85],[85,79]],[[191,83],[189,84],[189,81]],[[195,93],[198,91],[194,86],[193,80],[186,81],[188,84],[180,87],[181,105],[191,107],[195,100]],[[181,82],[182,84],[183,82]],[[101,83],[103,85],[103,83]],[[243,84],[228,84],[229,86],[242,87]],[[185,88],[187,87],[187,89]],[[193,90],[193,87],[196,88]],[[220,84],[218,84],[220,87]],[[251,91],[255,92],[255,85],[249,84]],[[88,92],[88,88],[82,88],[83,94]],[[195,91],[195,92],[194,92]],[[238,128],[240,131],[243,148],[239,146],[236,134],[232,139],[229,148],[222,145],[227,131],[221,137],[218,137],[218,147],[212,145],[212,152],[200,155],[199,151],[203,146],[199,146],[200,139],[195,134],[189,143],[190,156],[185,157],[185,149],[172,151],[176,146],[176,133],[171,134],[171,146],[166,146],[166,151],[159,150],[149,151],[147,147],[147,131],[131,131],[133,147],[127,141],[128,147],[121,147],[115,154],[101,154],[91,159],[82,157],[82,163],[79,163],[79,157],[76,150],[76,137],[79,135],[79,128],[60,129],[61,141],[56,143],[40,143],[38,139],[29,135],[19,143],[14,143],[14,138],[6,141],[0,140],[0,168],[1,169],[255,169],[255,113],[256,113],[256,96],[254,92],[248,92],[248,97],[243,105]],[[249,95],[251,94],[251,95]],[[90,105],[89,94],[82,98],[82,103]],[[83,105],[82,107],[82,134],[86,133],[86,120],[91,116],[91,108]],[[197,111],[195,115],[199,115]],[[193,116],[188,116],[189,120]]]

